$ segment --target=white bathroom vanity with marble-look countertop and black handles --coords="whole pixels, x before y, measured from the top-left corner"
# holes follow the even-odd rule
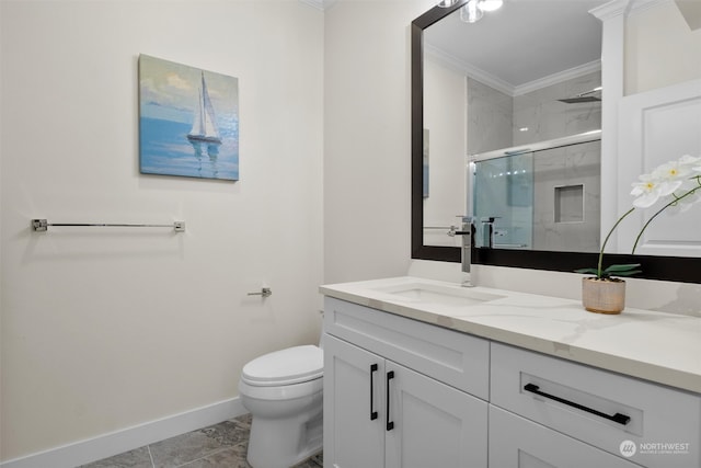
[[[325,285],[326,467],[701,466],[701,319],[399,277]]]

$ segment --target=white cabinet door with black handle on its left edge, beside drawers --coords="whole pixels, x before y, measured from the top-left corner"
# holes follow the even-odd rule
[[[485,401],[391,361],[384,385],[392,426],[386,432],[386,467],[486,467]]]

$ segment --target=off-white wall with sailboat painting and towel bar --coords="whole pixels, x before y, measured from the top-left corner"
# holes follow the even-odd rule
[[[315,342],[323,13],[3,0],[0,18],[0,459],[231,399],[245,362]],[[241,181],[138,173],[140,53],[239,78]],[[36,233],[35,217],[187,231]],[[271,298],[246,296],[263,282]]]

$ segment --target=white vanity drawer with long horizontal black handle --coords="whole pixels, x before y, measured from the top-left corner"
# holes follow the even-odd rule
[[[701,466],[701,396],[499,343],[491,358],[493,404],[646,467]]]

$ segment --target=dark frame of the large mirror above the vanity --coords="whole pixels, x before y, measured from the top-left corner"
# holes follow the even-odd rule
[[[434,7],[411,24],[411,99],[412,99],[412,259],[439,262],[460,262],[459,247],[424,244],[423,198],[423,127],[424,127],[424,71],[423,32],[432,24],[458,10],[468,0],[459,0],[453,7]],[[532,270],[573,272],[598,262],[598,253],[553,252],[512,249],[472,248],[472,263],[512,266]],[[681,283],[701,283],[701,259],[687,256],[655,256],[607,253],[607,263],[641,263],[643,273],[635,276]]]

